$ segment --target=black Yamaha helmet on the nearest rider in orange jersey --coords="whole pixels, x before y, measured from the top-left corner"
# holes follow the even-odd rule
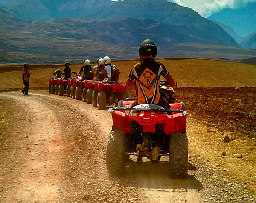
[[[140,57],[148,56],[155,58],[157,56],[157,46],[152,40],[146,39],[140,44],[139,55]]]

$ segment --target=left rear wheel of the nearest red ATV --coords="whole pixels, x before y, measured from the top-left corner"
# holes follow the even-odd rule
[[[106,164],[110,175],[122,175],[126,166],[125,132],[111,130],[108,135]]]

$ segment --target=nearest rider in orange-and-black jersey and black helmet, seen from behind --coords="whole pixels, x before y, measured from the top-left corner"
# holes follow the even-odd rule
[[[127,86],[132,86],[134,82],[137,99],[133,106],[137,104],[156,104],[165,109],[170,109],[169,103],[159,92],[160,76],[165,77],[170,87],[174,87],[175,82],[165,66],[155,61],[157,46],[152,40],[146,39],[140,44],[138,51],[140,63],[134,65],[131,69],[126,82]]]

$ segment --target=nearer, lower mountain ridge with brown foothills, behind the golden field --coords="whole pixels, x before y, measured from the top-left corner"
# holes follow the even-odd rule
[[[48,22],[24,22],[0,10],[0,63],[79,63],[107,55],[112,59],[136,59],[140,43],[150,37],[158,57],[242,59],[255,50],[214,44],[218,37],[194,26],[171,25],[151,19],[61,18]],[[184,43],[194,42],[194,43]]]

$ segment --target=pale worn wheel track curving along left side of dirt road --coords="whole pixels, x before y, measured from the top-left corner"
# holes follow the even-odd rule
[[[55,113],[35,96],[1,93],[0,98],[6,101],[1,107],[10,108],[13,115],[9,116],[15,122],[12,126],[6,123],[12,131],[8,136],[13,139],[9,139],[8,152],[4,150],[1,156],[11,156],[16,162],[1,178],[2,184],[12,185],[4,194],[5,202],[56,202],[63,145]],[[10,102],[15,105],[9,106]],[[18,157],[13,159],[15,155]]]

